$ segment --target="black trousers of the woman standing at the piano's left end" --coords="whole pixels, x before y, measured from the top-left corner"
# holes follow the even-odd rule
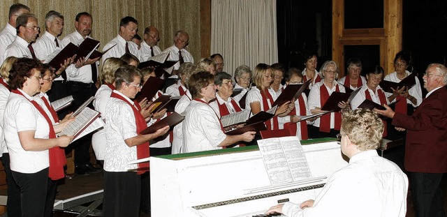
[[[136,172],[104,171],[103,216],[140,215],[141,177]]]

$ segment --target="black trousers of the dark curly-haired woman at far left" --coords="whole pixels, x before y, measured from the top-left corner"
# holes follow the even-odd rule
[[[47,200],[48,168],[31,174],[12,173],[20,188],[22,216],[43,216]]]

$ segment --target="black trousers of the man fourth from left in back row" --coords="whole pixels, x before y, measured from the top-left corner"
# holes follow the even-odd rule
[[[68,82],[67,83],[68,94],[73,96],[73,103],[71,103],[71,110],[74,111],[82,105],[91,96],[95,96],[96,87],[93,84],[85,84],[82,82]],[[91,106],[90,106],[91,107]],[[90,161],[90,144],[91,134],[76,140],[66,148],[66,153],[75,149],[75,164],[84,165]]]

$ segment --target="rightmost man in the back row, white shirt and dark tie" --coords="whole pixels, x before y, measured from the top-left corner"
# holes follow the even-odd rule
[[[188,33],[186,33],[186,31],[179,30],[175,33],[174,45],[166,48],[166,50],[163,50],[163,52],[170,53],[168,60],[178,61],[174,65],[174,70],[178,70],[180,64],[184,62],[194,63],[193,55],[191,55],[190,52],[184,49],[186,46],[188,46],[188,43],[189,43]],[[173,73],[175,74],[175,72]]]

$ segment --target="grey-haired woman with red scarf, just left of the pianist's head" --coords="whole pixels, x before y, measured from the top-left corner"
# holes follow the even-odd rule
[[[335,61],[325,61],[323,66],[321,66],[321,73],[324,78],[321,82],[314,84],[309,92],[309,99],[307,101],[312,114],[324,112],[321,110],[321,107],[333,92],[346,93],[344,86],[335,81],[338,73],[337,63]],[[345,108],[347,104],[346,102],[340,102],[338,106]],[[341,121],[341,112],[324,114],[322,117],[316,119],[313,126],[310,127],[310,134],[313,138],[335,137],[339,133]]]

